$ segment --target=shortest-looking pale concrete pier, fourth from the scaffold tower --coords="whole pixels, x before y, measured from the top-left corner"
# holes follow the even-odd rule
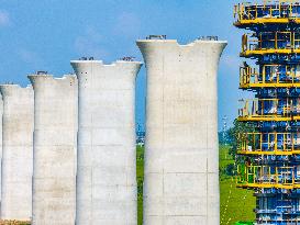
[[[3,154],[1,218],[30,221],[32,214],[33,89],[1,85]]]

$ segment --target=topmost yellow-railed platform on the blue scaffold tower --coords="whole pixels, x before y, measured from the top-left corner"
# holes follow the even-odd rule
[[[298,0],[264,1],[263,3],[244,2],[234,5],[235,25],[249,23],[288,23],[290,19],[300,18],[295,12],[299,7]]]

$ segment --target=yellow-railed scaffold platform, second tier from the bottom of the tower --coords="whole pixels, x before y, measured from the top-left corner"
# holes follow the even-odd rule
[[[298,155],[300,154],[300,133],[241,134],[237,153],[243,155]]]

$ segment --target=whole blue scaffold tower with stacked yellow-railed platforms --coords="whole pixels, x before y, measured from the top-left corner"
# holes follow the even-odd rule
[[[297,0],[240,3],[234,25],[246,29],[238,121],[237,187],[253,189],[256,223],[300,224],[300,3]],[[251,128],[251,130],[252,130]]]

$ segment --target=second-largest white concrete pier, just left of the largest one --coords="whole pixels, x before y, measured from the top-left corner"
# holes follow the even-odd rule
[[[135,78],[138,61],[75,60],[79,131],[77,225],[136,225]]]

